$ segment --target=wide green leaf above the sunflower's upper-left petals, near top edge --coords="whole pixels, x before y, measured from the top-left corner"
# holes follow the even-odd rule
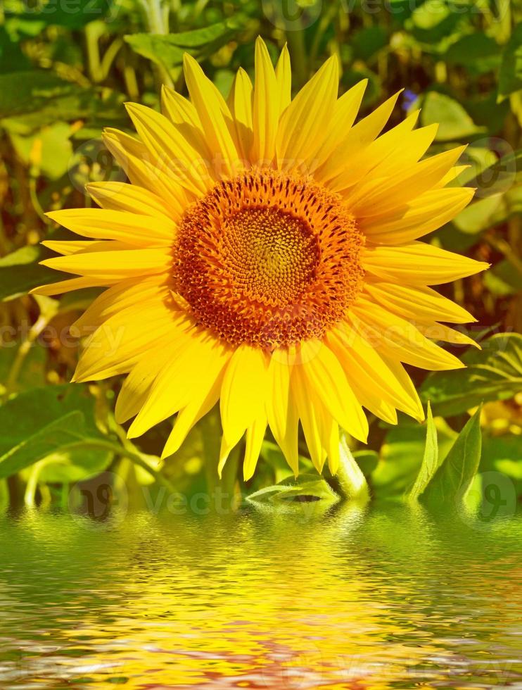
[[[156,65],[171,69],[183,63],[183,54],[191,53],[202,58],[211,55],[229,42],[241,26],[240,19],[229,19],[203,29],[184,31],[163,36],[160,34],[133,34],[125,41],[134,52],[148,58]]]

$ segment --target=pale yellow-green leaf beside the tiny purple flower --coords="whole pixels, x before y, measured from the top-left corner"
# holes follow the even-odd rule
[[[485,127],[477,127],[464,108],[445,94],[431,91],[424,96],[421,110],[423,125],[438,123],[439,128],[435,139],[447,142],[485,132]]]

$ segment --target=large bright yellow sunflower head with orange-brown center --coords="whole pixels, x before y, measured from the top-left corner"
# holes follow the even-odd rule
[[[246,434],[251,477],[268,425],[297,475],[300,423],[336,472],[339,429],[367,440],[363,407],[424,418],[404,364],[460,368],[434,340],[473,344],[441,323],[473,317],[428,285],[487,264],[417,241],[473,196],[454,184],[464,147],[424,158],[437,127],[418,112],[381,134],[400,94],[355,124],[366,82],[338,98],[335,56],[294,99],[286,47],[274,69],[261,39],[254,84],[238,70],[226,101],[189,55],[184,75],[190,100],[127,104],[139,139],[106,130],[129,183],[49,213],[89,239],[44,242],[77,277],[37,292],[106,288],[76,322],[74,380],[127,375],[129,437],[176,415],[170,456],[219,401],[219,471]]]

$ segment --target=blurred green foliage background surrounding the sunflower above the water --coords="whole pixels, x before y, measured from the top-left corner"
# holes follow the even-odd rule
[[[102,127],[132,131],[122,103],[158,108],[162,83],[184,92],[184,51],[227,95],[238,67],[253,75],[257,35],[274,58],[288,42],[294,90],[334,54],[342,91],[369,80],[364,113],[404,88],[391,125],[421,107],[423,125],[441,123],[431,153],[469,143],[460,182],[477,187],[476,198],[427,239],[492,264],[440,288],[476,315],[471,334],[483,350],[457,348],[466,370],[413,372],[433,409],[427,429],[406,418],[397,427],[372,420],[369,446],[348,439],[351,477],[329,482],[314,474],[304,445],[303,478],[288,479],[270,439],[247,487],[238,457],[219,482],[212,415],[165,463],[157,453],[169,422],[130,444],[112,416],[118,380],[68,383],[81,346],[69,327],[96,292],[27,294],[58,280],[39,265],[39,242],[72,237],[44,213],[89,205],[87,182],[125,180],[101,143]],[[143,487],[186,496],[219,489],[232,507],[246,494],[271,509],[312,498],[329,506],[367,482],[376,499],[454,506],[467,494],[485,513],[505,510],[506,501],[514,509],[522,491],[521,125],[522,7],[510,0],[4,0],[0,503],[67,506],[73,484],[89,487],[111,471],[136,506]]]

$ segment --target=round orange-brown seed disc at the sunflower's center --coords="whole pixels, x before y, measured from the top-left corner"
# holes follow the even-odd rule
[[[362,286],[363,243],[338,196],[307,178],[253,169],[184,214],[175,289],[227,342],[288,346],[343,318]]]

